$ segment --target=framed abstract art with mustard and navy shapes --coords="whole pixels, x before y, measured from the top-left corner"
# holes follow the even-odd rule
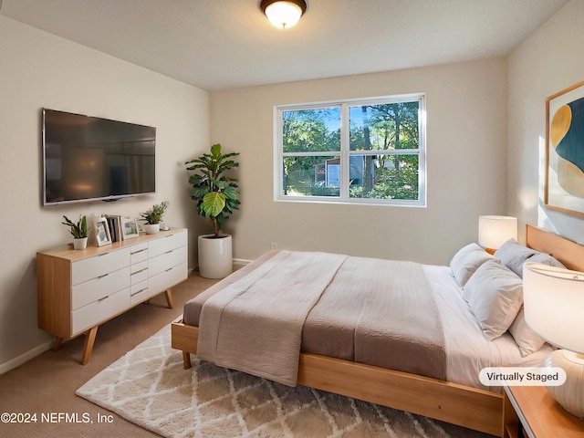
[[[547,208],[584,216],[584,81],[546,99]]]

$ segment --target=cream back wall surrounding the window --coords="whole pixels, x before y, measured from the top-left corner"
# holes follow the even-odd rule
[[[426,93],[427,208],[276,203],[273,107]],[[479,214],[506,213],[506,59],[211,93],[211,140],[241,152],[238,258],[278,248],[446,264]]]

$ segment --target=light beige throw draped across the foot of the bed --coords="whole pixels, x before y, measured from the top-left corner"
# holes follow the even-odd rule
[[[210,297],[197,356],[295,386],[304,321],[346,258],[281,251]]]

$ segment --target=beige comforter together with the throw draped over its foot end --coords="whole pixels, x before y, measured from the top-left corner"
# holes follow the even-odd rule
[[[205,297],[200,359],[294,386],[302,345],[446,378],[442,321],[421,265],[281,251],[226,283]]]

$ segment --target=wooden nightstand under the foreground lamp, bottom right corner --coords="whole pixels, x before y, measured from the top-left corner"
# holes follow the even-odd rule
[[[506,386],[503,437],[517,438],[520,426],[529,438],[582,438],[584,421],[565,412],[545,386]]]

